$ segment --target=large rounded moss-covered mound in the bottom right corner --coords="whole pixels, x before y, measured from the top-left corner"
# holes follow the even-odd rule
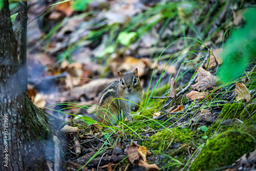
[[[190,170],[206,170],[231,165],[255,147],[251,136],[230,130],[207,139],[201,153],[191,164]]]

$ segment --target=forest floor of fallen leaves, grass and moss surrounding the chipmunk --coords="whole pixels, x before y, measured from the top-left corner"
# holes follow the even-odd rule
[[[28,25],[29,96],[75,127],[66,170],[256,169],[256,60],[246,47],[256,36],[243,15],[254,1],[77,0],[44,11],[54,3],[28,2],[28,22],[42,12]],[[251,59],[226,65],[239,47]],[[144,94],[133,119],[95,123],[105,86],[135,68]]]

